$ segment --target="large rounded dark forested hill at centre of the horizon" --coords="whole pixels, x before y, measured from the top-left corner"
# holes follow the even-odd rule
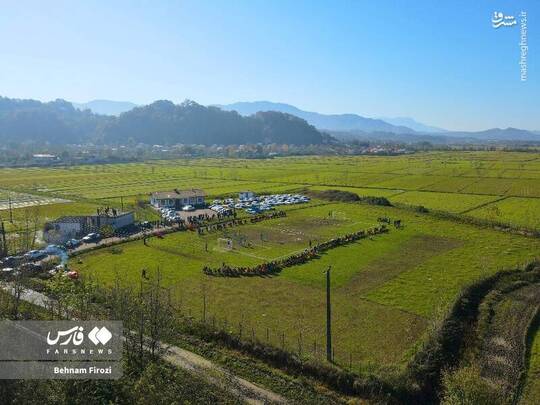
[[[193,101],[175,105],[156,101],[121,114],[104,130],[107,143],[131,139],[144,143],[320,144],[325,136],[293,115],[264,112],[242,117],[234,111],[205,107]]]

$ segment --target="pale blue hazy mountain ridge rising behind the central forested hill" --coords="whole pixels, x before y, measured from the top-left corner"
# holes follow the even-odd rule
[[[296,115],[321,130],[332,131],[384,131],[396,134],[414,133],[411,128],[402,125],[392,125],[380,119],[366,118],[357,114],[320,114],[304,111],[293,105],[273,103],[270,101],[238,102],[226,105],[216,105],[227,111],[237,111],[240,115],[251,115],[259,111],[280,111]]]

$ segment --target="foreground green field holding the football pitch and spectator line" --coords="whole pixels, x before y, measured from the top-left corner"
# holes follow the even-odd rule
[[[330,214],[330,215],[329,215]],[[204,265],[225,262],[252,265],[305,248],[309,240],[363,229],[378,216],[401,218],[404,229],[361,240],[323,254],[274,277],[204,276]],[[324,274],[332,265],[336,358],[346,365],[399,365],[430,320],[467,282],[506,266],[525,262],[540,250],[540,241],[434,220],[395,208],[332,203],[291,210],[288,217],[233,230],[252,242],[221,250],[222,233],[196,236],[177,233],[122,246],[121,254],[101,250],[78,257],[72,266],[112,283],[115,277],[137,285],[141,270],[160,268],[184,311],[202,316],[206,291],[207,317],[227,321],[236,333],[280,346],[281,334],[291,350],[302,339],[304,353],[324,342]],[[205,251],[208,243],[209,252]],[[399,331],[397,333],[397,331]],[[315,343],[317,342],[317,343]]]

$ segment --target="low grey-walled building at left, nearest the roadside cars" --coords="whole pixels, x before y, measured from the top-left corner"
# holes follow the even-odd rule
[[[43,239],[47,243],[64,243],[90,232],[99,232],[100,228],[106,225],[116,231],[133,225],[134,222],[133,212],[116,210],[99,210],[96,215],[65,216],[45,224]]]

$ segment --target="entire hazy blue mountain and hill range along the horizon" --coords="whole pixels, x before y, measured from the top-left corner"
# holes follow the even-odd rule
[[[203,106],[161,100],[137,106],[108,100],[43,103],[0,97],[0,142],[320,144],[332,142],[330,135],[347,141],[402,143],[540,142],[539,132],[517,128],[446,131],[411,118],[320,114],[268,101]]]

